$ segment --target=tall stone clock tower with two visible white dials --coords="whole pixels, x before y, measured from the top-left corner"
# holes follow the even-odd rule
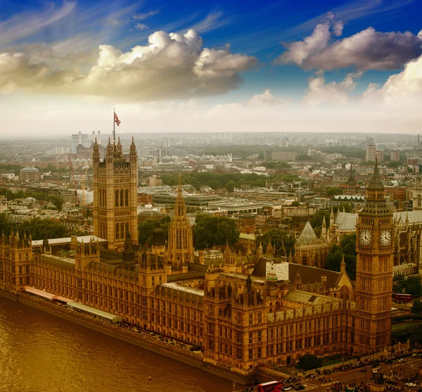
[[[385,202],[376,161],[356,226],[354,351],[360,355],[390,345],[393,228],[392,211]]]

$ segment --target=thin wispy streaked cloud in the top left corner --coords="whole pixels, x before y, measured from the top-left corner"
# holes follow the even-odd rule
[[[56,8],[54,4],[49,4],[44,11],[39,13],[25,11],[14,15],[12,18],[0,23],[0,45],[3,46],[15,40],[28,37],[43,27],[65,18],[73,11],[75,5],[74,1],[63,1],[61,8]]]

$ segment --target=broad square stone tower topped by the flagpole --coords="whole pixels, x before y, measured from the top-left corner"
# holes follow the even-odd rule
[[[92,155],[94,172],[94,234],[108,241],[109,249],[122,249],[127,234],[138,244],[138,157],[132,137],[129,160],[124,158],[120,138],[108,139],[106,156],[100,161],[97,141]]]

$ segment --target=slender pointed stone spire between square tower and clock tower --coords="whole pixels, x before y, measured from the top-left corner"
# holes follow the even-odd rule
[[[172,270],[184,270],[188,263],[193,263],[193,237],[191,223],[186,216],[186,206],[181,192],[181,182],[177,186],[177,198],[174,204],[174,217],[169,227],[167,253]]]

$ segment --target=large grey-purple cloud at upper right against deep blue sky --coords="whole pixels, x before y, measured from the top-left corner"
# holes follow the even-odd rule
[[[422,54],[421,37],[411,32],[377,32],[373,27],[331,41],[340,35],[343,23],[328,18],[317,25],[309,37],[284,44],[286,51],[276,64],[297,64],[305,70],[333,70],[354,67],[357,70],[399,70]]]

